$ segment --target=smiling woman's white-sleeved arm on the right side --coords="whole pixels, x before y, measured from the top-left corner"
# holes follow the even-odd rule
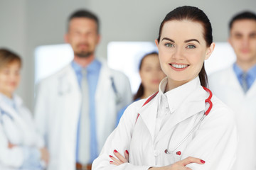
[[[186,147],[184,157],[200,157],[206,161],[204,166],[189,164],[191,169],[228,170],[235,161],[237,133],[233,113],[219,103],[213,103],[213,111],[203,120]]]

